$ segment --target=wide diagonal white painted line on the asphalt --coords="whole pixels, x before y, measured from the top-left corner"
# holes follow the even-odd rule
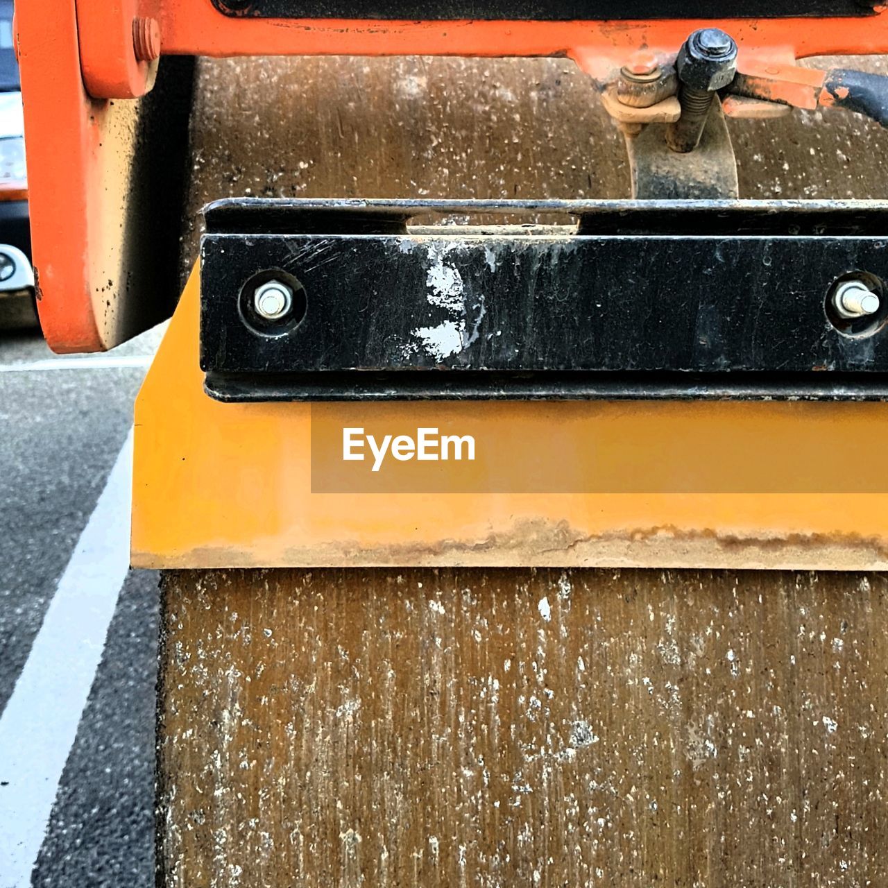
[[[130,568],[132,431],[0,713],[0,888],[29,888]]]

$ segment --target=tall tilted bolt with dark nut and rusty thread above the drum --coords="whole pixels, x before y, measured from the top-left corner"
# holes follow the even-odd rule
[[[687,154],[700,144],[716,92],[737,74],[737,44],[719,28],[702,28],[687,38],[676,59],[681,117],[670,123],[666,143]]]

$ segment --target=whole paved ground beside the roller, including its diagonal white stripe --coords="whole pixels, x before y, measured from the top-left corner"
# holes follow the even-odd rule
[[[158,576],[127,569],[126,446],[159,339],[0,333],[0,888],[154,884]]]

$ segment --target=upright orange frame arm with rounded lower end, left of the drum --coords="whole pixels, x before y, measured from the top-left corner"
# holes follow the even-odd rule
[[[86,91],[75,0],[16,4],[16,25],[41,326],[53,351],[104,351],[144,329],[126,274],[138,243],[123,242],[139,234],[128,221],[138,108]]]

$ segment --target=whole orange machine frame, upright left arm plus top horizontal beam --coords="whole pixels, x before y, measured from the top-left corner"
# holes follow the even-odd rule
[[[135,56],[135,17],[153,20],[164,55],[567,56],[599,82],[639,48],[673,56],[703,24],[234,19],[210,0],[18,4],[37,295],[45,336],[59,352],[117,345],[160,320],[155,304],[172,302],[131,274],[152,220],[131,207],[138,140],[127,115],[158,64]],[[750,64],[888,52],[886,24],[884,12],[876,19],[719,21]]]

